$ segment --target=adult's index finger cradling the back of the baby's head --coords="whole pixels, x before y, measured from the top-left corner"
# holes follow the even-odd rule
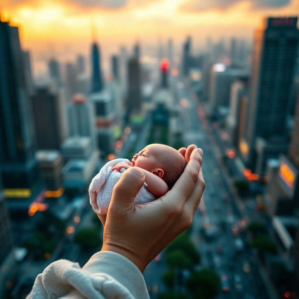
[[[187,200],[198,180],[202,165],[200,152],[201,149],[193,149],[189,163],[171,189],[171,196],[177,199],[177,203],[184,203]]]

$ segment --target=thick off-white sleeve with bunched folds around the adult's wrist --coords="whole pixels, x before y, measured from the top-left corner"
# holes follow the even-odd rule
[[[149,299],[144,277],[130,260],[111,251],[94,254],[81,269],[58,260],[36,277],[26,299]]]

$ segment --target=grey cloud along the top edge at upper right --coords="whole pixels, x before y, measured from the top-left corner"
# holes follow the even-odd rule
[[[204,10],[226,10],[232,5],[242,2],[243,0],[187,0],[185,4],[181,6],[182,10],[187,11],[204,11]],[[251,7],[254,9],[260,8],[275,8],[286,6],[291,0],[249,0]]]

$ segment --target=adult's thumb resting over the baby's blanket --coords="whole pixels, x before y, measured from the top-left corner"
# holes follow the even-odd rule
[[[115,210],[132,208],[134,199],[144,184],[144,179],[144,172],[138,167],[130,167],[123,172],[113,188],[109,209],[110,207]]]

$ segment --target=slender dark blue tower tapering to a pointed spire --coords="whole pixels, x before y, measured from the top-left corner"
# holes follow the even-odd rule
[[[104,88],[104,80],[101,71],[100,47],[96,42],[91,48],[91,92],[99,92]]]

